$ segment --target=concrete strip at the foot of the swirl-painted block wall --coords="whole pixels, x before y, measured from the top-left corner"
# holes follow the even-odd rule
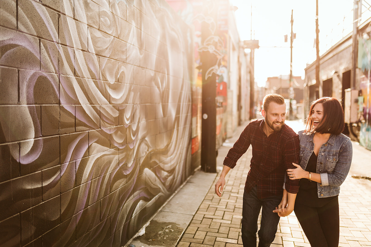
[[[209,193],[216,173],[196,171],[180,190],[155,214],[147,226],[142,228],[144,234],[134,236],[129,246],[135,247],[174,247],[185,229],[189,226],[200,204]],[[189,227],[188,227],[189,228]],[[198,233],[196,238],[204,238]]]

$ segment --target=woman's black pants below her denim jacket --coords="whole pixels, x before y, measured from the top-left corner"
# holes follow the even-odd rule
[[[295,203],[295,215],[312,247],[338,247],[338,197],[323,207],[308,207]]]

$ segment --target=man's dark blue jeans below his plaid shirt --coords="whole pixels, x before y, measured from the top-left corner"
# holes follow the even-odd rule
[[[262,208],[260,220],[259,247],[268,247],[275,240],[279,216],[273,213],[282,200],[281,196],[258,199],[256,186],[250,192],[243,193],[242,205],[242,243],[244,247],[256,247],[257,220]]]

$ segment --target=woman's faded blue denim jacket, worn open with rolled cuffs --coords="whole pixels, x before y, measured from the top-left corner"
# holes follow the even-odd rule
[[[309,157],[314,150],[313,134],[306,135],[299,131],[300,166],[305,170]],[[340,185],[348,175],[352,163],[353,147],[349,137],[344,134],[334,135],[319,148],[317,158],[317,171],[321,174],[321,183],[317,183],[318,198],[337,196]]]

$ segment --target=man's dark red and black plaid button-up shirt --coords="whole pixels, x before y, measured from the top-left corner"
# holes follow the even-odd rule
[[[286,190],[298,193],[299,180],[290,180],[286,173],[286,169],[295,168],[292,163],[299,164],[298,134],[285,124],[280,131],[267,137],[263,126],[264,119],[250,122],[229,150],[223,164],[230,168],[236,166],[237,160],[251,144],[252,159],[245,189],[250,191],[257,186],[258,198],[280,195],[286,176]]]

